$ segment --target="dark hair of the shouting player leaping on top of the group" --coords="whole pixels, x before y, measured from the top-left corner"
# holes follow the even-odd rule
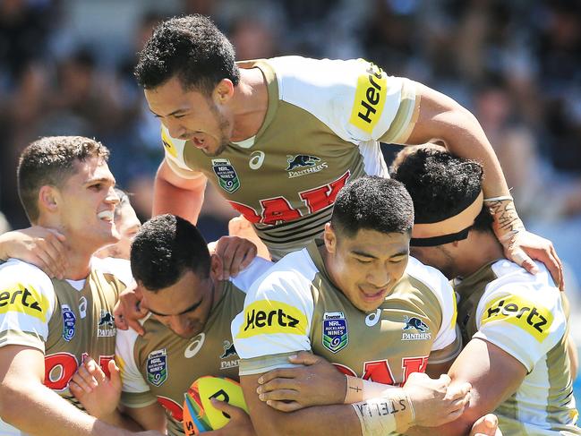
[[[219,81],[240,81],[235,49],[216,25],[200,14],[162,21],[139,54],[135,77],[152,90],[177,76],[184,90],[209,95]]]

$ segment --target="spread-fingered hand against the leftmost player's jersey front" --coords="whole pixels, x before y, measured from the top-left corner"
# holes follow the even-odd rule
[[[111,374],[110,378],[99,368],[97,362],[88,357],[69,381],[69,389],[87,413],[104,421],[115,414],[122,388],[121,375],[115,360],[108,362],[107,369]]]

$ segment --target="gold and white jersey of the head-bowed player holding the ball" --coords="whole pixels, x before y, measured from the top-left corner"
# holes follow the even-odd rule
[[[230,324],[242,311],[245,290],[270,265],[256,258],[235,278],[219,282],[222,295],[204,330],[194,338],[177,336],[153,316],[144,322],[142,337],[133,329],[119,330],[116,357],[123,379],[121,403],[144,407],[158,401],[166,410],[169,434],[184,434],[184,394],[192,382],[205,375],[238,380],[239,358]]]

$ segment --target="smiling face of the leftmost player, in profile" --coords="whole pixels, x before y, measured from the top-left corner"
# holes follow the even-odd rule
[[[115,244],[115,178],[103,158],[76,161],[75,172],[55,189],[56,214],[67,239],[78,249],[95,252],[106,244]]]

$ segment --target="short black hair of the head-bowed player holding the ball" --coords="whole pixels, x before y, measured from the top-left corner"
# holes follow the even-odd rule
[[[151,292],[174,285],[187,271],[209,277],[208,244],[192,223],[175,215],[147,221],[133,239],[130,260],[133,277]]]

